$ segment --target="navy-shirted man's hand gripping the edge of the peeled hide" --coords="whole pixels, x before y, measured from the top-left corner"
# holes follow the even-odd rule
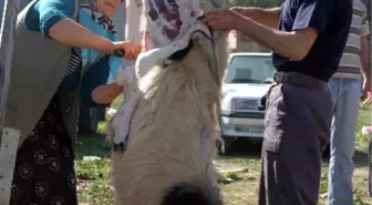
[[[205,21],[209,27],[219,31],[236,30],[244,17],[229,9],[214,10],[206,13]]]

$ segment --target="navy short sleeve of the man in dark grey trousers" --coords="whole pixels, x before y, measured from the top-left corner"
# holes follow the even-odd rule
[[[302,0],[299,1],[293,30],[306,28],[323,32],[330,19],[334,0]]]

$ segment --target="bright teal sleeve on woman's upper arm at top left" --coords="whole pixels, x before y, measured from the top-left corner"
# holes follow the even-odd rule
[[[75,0],[39,0],[25,17],[25,23],[31,31],[49,37],[49,30],[59,21],[72,18],[75,11]]]

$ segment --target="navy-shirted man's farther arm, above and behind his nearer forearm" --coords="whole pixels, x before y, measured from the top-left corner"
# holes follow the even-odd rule
[[[245,17],[257,21],[266,27],[278,29],[281,8],[262,9],[256,7],[234,7],[232,11],[236,11]]]

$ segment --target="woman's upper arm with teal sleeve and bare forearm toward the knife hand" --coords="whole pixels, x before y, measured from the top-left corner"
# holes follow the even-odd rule
[[[38,1],[27,17],[28,28],[63,44],[112,53],[115,44],[80,25],[72,18],[75,0]]]

